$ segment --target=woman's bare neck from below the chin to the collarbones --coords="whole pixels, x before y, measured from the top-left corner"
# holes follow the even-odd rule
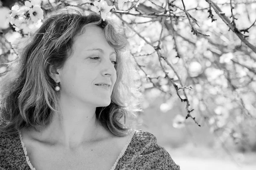
[[[35,139],[71,149],[111,136],[112,133],[106,130],[96,118],[95,110],[86,113],[78,110],[69,112],[65,109],[61,113],[61,118],[55,113],[47,127],[39,128],[41,133],[36,133]]]

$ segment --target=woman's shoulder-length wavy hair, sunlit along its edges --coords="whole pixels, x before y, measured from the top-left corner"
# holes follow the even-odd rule
[[[89,25],[103,29],[118,63],[111,104],[96,108],[96,118],[116,136],[125,136],[134,127],[125,121],[141,111],[137,105],[142,94],[136,87],[137,63],[131,56],[125,28],[109,18],[103,21],[96,13],[86,15],[81,7],[65,7],[45,20],[20,48],[20,57],[7,63],[8,71],[0,77],[0,131],[17,133],[30,126],[37,130],[49,125],[54,112],[60,115],[59,92],[49,69],[63,67],[73,52],[74,37]]]

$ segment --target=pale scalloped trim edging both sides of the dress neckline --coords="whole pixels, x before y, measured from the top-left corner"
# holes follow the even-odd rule
[[[128,141],[126,142],[125,146],[123,147],[121,153],[119,154],[118,158],[116,159],[115,163],[113,164],[113,166],[111,167],[110,170],[114,170],[116,168],[116,165],[117,165],[119,159],[122,158],[122,156],[124,155],[125,151],[127,150],[128,146],[129,146],[129,144],[131,143],[131,139],[133,138],[135,131],[136,130],[132,130],[132,129],[128,130],[128,135],[129,135]],[[35,170],[35,167],[33,167],[33,165],[31,164],[31,162],[29,160],[29,156],[27,156],[27,150],[26,150],[24,142],[22,141],[22,135],[19,130],[18,130],[18,133],[19,133],[20,143],[22,145],[22,148],[23,148],[23,151],[24,151],[24,154],[26,157],[26,162],[29,165],[31,170]]]

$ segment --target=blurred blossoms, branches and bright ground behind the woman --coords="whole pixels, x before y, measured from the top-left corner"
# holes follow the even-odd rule
[[[0,74],[17,57],[19,41],[44,22],[27,16],[25,2],[0,1]],[[44,18],[68,5],[90,11],[93,3],[29,2],[41,6]],[[256,1],[106,3],[131,36],[143,92],[143,111],[133,120],[138,129],[154,134],[181,170],[256,170]]]

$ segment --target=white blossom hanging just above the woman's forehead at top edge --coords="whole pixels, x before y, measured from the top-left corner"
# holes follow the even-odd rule
[[[96,7],[92,7],[91,10],[94,12],[99,12],[101,14],[102,20],[105,21],[108,12],[113,8],[113,6],[108,6],[105,0],[94,1],[93,5]]]

